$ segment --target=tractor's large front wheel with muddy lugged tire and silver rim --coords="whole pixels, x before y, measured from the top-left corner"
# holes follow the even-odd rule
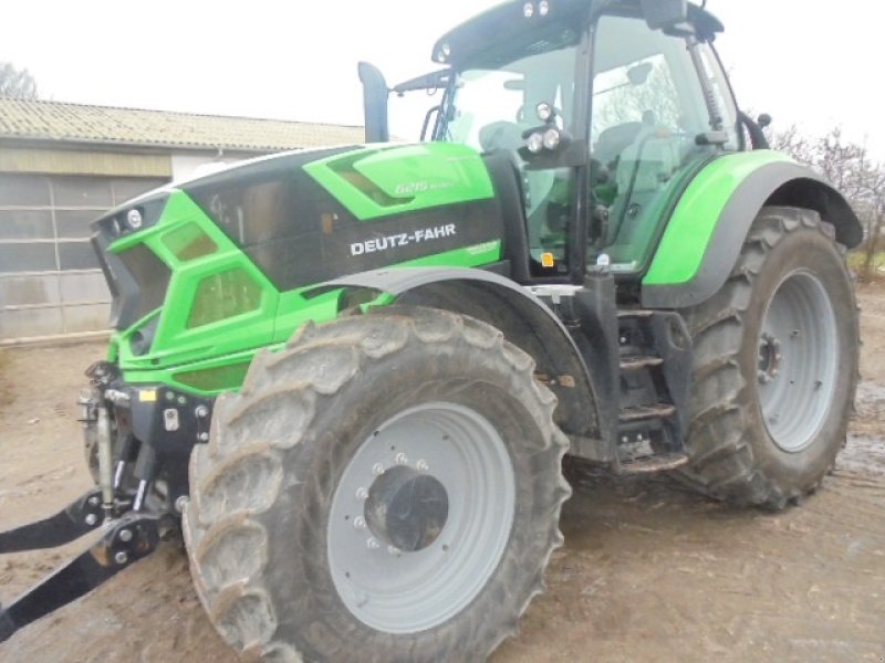
[[[554,408],[499,330],[436,309],[259,354],[190,463],[184,529],[216,628],[249,660],[488,655],[562,541]]]

